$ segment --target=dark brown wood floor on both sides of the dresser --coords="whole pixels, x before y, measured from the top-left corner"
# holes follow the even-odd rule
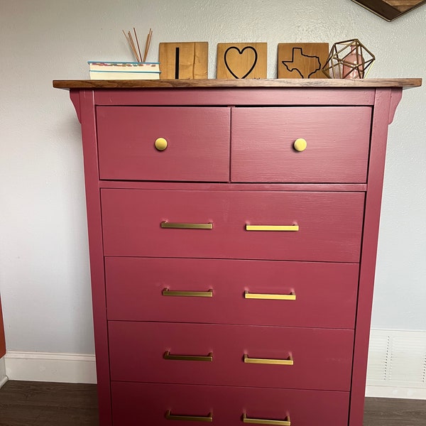
[[[364,426],[426,426],[426,400],[366,398],[364,417]],[[9,381],[0,389],[0,426],[97,425],[95,385]]]

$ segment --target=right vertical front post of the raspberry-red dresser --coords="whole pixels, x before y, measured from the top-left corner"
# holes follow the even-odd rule
[[[390,104],[391,89],[377,89],[371,127],[371,150],[364,214],[364,237],[361,249],[349,426],[362,426],[364,416],[368,339]]]

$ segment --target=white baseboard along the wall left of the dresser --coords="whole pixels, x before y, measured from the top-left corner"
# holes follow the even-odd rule
[[[9,380],[97,383],[94,355],[6,352]]]

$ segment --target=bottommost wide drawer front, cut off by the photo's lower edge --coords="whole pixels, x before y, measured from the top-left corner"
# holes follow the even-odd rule
[[[346,426],[349,393],[297,389],[111,383],[114,426],[175,424],[166,415],[209,417],[217,426],[249,418],[290,421],[295,426]],[[288,418],[290,417],[290,418]],[[194,426],[194,420],[180,420]],[[200,422],[206,424],[206,422]]]

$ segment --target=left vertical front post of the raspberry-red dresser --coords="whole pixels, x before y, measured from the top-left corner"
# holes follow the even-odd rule
[[[94,344],[97,359],[99,424],[102,426],[110,426],[111,390],[109,381],[107,302],[105,295],[104,258],[102,254],[102,215],[99,200],[96,114],[94,108],[94,93],[92,90],[80,91],[80,115],[82,119],[90,273],[92,277],[92,306]]]

